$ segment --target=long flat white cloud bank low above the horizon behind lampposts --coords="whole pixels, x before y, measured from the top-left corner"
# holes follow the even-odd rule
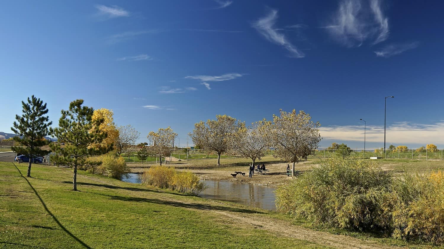
[[[343,141],[364,141],[363,126],[326,126],[321,127],[323,139]],[[367,126],[367,142],[384,142],[384,126]],[[444,139],[444,121],[434,124],[402,122],[386,127],[388,144],[428,144],[439,143]]]

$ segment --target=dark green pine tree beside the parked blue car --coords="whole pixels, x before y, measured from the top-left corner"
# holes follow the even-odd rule
[[[26,176],[31,177],[31,164],[36,156],[47,155],[50,150],[42,150],[42,146],[48,145],[45,136],[49,134],[48,126],[52,124],[49,122],[49,117],[44,116],[48,113],[46,103],[37,99],[34,95],[31,99],[28,98],[28,103],[22,101],[23,115],[16,115],[16,120],[13,123],[11,130],[19,136],[14,137],[14,141],[22,146],[13,146],[12,150],[17,154],[27,155],[29,157],[28,173]],[[36,161],[38,163],[38,161]]]

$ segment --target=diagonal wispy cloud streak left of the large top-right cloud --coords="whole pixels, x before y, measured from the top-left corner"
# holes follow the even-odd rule
[[[285,47],[290,52],[291,57],[302,58],[304,57],[304,53],[297,49],[292,43],[290,43],[284,34],[279,33],[278,29],[274,27],[277,20],[277,10],[272,9],[268,15],[260,18],[256,22],[253,23],[253,28],[264,36],[267,40],[272,43],[281,45]]]

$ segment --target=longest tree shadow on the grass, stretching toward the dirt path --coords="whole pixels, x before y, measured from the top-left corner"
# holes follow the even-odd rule
[[[107,195],[107,196],[110,197],[111,200],[119,200],[125,202],[149,202],[159,205],[168,205],[168,206],[182,207],[182,208],[218,210],[218,211],[238,212],[238,213],[263,213],[261,211],[254,211],[249,209],[232,208],[226,206],[214,206],[202,203],[184,203],[184,202],[166,201],[166,200],[140,198],[140,197],[127,197],[127,196],[118,196],[118,195]]]

